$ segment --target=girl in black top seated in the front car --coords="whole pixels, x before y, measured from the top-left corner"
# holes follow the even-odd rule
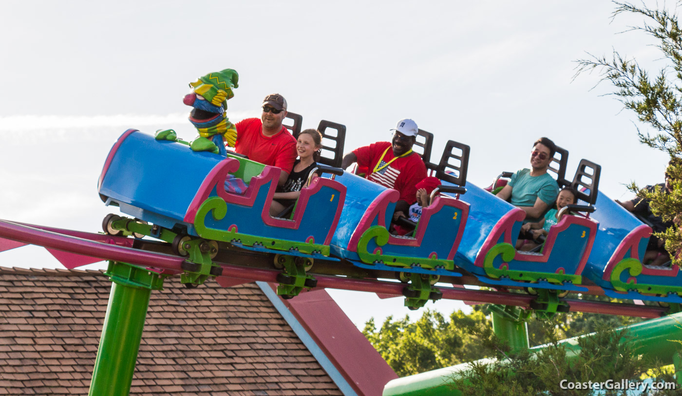
[[[296,151],[299,158],[294,162],[286,183],[281,190],[275,193],[270,205],[270,215],[276,216],[284,209],[296,202],[308,181],[308,174],[317,166],[316,160],[320,158],[322,150],[322,135],[317,130],[304,130],[298,136]]]

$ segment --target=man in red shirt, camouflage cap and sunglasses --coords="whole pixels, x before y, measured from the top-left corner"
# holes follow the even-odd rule
[[[286,182],[296,159],[296,139],[282,125],[284,117],[286,100],[279,93],[273,93],[263,100],[261,119],[243,119],[235,125],[235,152],[252,161],[281,168],[280,185]]]

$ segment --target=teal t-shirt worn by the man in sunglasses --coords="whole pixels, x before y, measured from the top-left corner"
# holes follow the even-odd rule
[[[531,176],[531,170],[528,168],[516,172],[511,177],[509,185],[514,187],[511,190],[511,204],[516,207],[532,207],[537,198],[552,206],[559,195],[559,185],[550,174]],[[537,220],[526,219],[527,222]]]

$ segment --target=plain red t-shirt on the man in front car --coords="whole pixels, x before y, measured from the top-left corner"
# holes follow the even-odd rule
[[[277,166],[291,173],[296,159],[296,139],[286,127],[276,135],[263,135],[263,122],[257,118],[243,119],[236,125],[237,142],[235,151],[246,155],[252,161]]]

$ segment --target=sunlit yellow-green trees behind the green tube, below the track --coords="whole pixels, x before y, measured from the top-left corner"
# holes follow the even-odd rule
[[[609,300],[604,296],[584,296],[587,299]],[[364,327],[363,334],[379,351],[398,376],[409,376],[424,371],[477,361],[495,356],[495,348],[481,348],[492,338],[492,323],[488,305],[476,305],[471,314],[454,311],[446,320],[437,311],[426,309],[421,318],[410,322],[409,316],[394,320],[386,318],[380,329],[374,319]],[[549,344],[597,331],[600,326],[614,329],[639,322],[640,318],[599,314],[557,314],[550,320],[528,322],[531,346]]]

